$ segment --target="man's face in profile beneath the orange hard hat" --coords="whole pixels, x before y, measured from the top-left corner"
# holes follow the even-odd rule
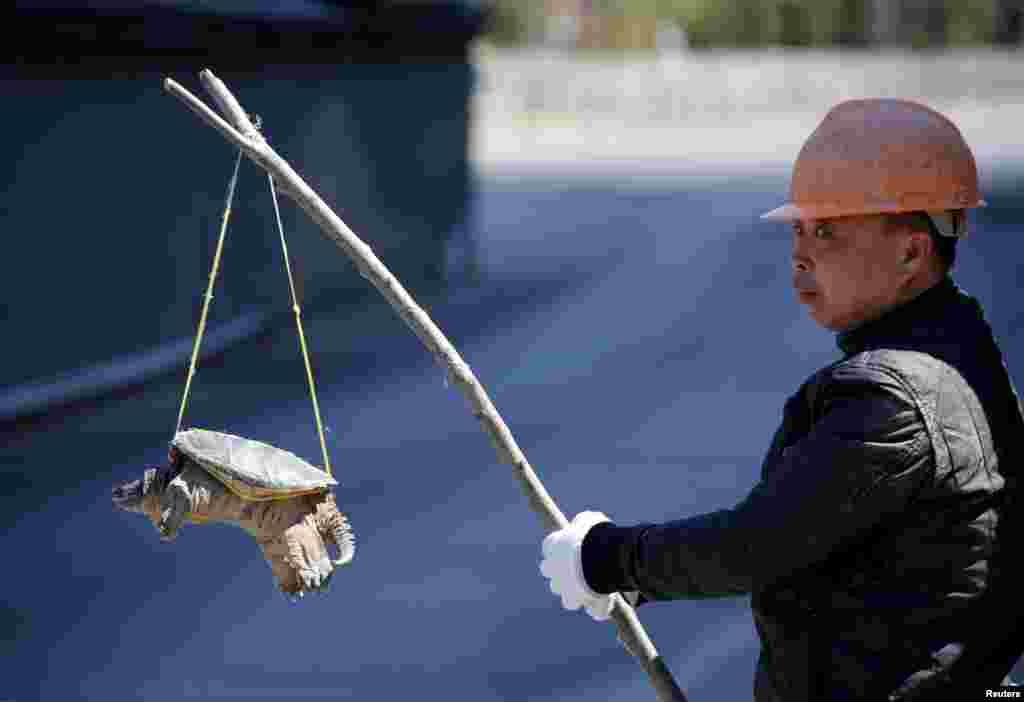
[[[793,287],[814,321],[834,332],[881,315],[909,277],[904,237],[885,217],[862,215],[793,223]]]

